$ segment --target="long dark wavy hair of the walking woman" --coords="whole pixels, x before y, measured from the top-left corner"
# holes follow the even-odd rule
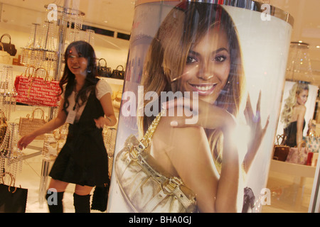
[[[75,74],[73,74],[68,67],[68,57],[71,48],[75,48],[79,55],[85,57],[87,59],[87,76],[85,77],[85,84],[78,92],[78,96],[76,97],[76,104],[79,105],[79,99],[81,100],[81,104],[84,104],[87,101],[87,92],[95,92],[95,85],[99,81],[97,78],[97,63],[95,50],[92,48],[92,45],[85,41],[75,41],[68,45],[68,48],[65,50],[65,69],[63,71],[63,77],[60,79],[60,88],[63,93],[63,85],[65,86],[65,103],[63,105],[63,110],[66,111],[68,108],[69,101],[68,97],[75,89]],[[62,94],[61,93],[61,94]]]

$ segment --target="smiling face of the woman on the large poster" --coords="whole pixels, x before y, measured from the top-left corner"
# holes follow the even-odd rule
[[[199,99],[213,104],[225,87],[230,72],[227,34],[213,28],[200,42],[191,46],[178,89],[198,92]]]

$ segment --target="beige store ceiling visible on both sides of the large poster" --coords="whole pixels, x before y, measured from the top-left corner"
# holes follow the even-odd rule
[[[134,17],[134,0],[68,0],[70,6],[85,13],[85,23],[129,34]],[[262,1],[262,0],[260,0]],[[320,82],[320,1],[269,0],[272,6],[289,12],[294,17],[292,41],[309,43],[311,67]],[[65,0],[0,0],[0,3],[32,11],[44,12],[45,5],[63,6]],[[317,48],[318,46],[318,48]],[[319,83],[320,84],[320,83]]]

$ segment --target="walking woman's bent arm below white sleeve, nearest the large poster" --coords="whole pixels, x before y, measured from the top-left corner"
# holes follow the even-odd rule
[[[114,109],[112,106],[111,94],[107,93],[101,97],[100,103],[102,109],[105,112],[105,117],[100,117],[95,119],[95,124],[98,128],[103,128],[103,126],[114,126],[117,123],[117,118],[114,115]]]

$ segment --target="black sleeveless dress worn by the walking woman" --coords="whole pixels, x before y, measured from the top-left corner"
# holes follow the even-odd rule
[[[49,176],[63,182],[94,187],[109,183],[108,157],[102,129],[95,118],[104,116],[100,101],[90,94],[78,123],[70,124],[68,138]]]

